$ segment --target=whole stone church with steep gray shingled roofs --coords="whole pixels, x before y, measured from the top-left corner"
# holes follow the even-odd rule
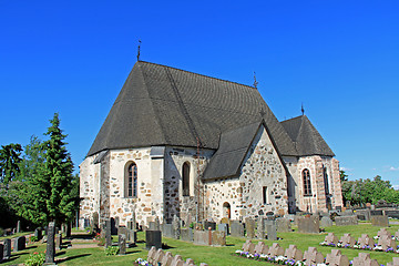
[[[306,115],[254,86],[137,61],[80,165],[80,218],[146,225],[342,205],[339,162]],[[95,215],[96,216],[96,215]]]

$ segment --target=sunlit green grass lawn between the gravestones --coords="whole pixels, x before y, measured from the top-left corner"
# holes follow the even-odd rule
[[[391,225],[389,231],[395,234],[399,229],[399,225]],[[293,233],[278,233],[278,237],[283,239],[278,241],[279,245],[287,248],[290,244],[297,245],[303,252],[309,246],[317,247],[323,255],[327,255],[331,252],[330,247],[319,246],[319,243],[324,241],[327,233],[332,232],[338,237],[341,237],[345,233],[350,233],[356,239],[361,234],[369,234],[370,236],[377,235],[379,227],[371,226],[370,224],[359,224],[356,226],[331,226],[326,228],[326,233],[313,235],[313,234],[299,234]],[[83,232],[80,234],[84,234]],[[82,237],[82,235],[75,236]],[[116,238],[114,236],[114,238]],[[72,248],[58,250],[55,259],[58,265],[132,265],[133,260],[139,257],[146,258],[147,250],[144,249],[144,233],[139,232],[139,243],[136,247],[127,248],[125,256],[105,256],[103,247],[79,248],[80,245],[93,244],[93,242],[81,243],[79,239],[74,239]],[[242,257],[234,256],[236,249],[241,249],[245,238],[227,237],[227,246],[224,247],[208,247],[196,246],[191,243],[184,243],[172,238],[163,238],[163,243],[167,245],[167,250],[173,255],[180,254],[184,259],[193,258],[194,262],[207,263],[208,265],[229,266],[229,265],[270,265],[265,262],[255,262]],[[264,241],[267,245],[272,246],[273,242]],[[257,243],[257,241],[254,241]],[[399,243],[398,243],[399,244]],[[342,254],[347,255],[349,259],[358,256],[358,249],[339,248]],[[3,263],[2,265],[22,264],[24,259],[29,257],[29,254],[33,252],[44,252],[45,244],[31,244],[25,250],[19,253],[12,253],[11,260]],[[383,252],[369,252],[371,258],[376,258],[378,263],[386,265],[388,262],[392,262],[392,257],[398,254],[383,253]]]

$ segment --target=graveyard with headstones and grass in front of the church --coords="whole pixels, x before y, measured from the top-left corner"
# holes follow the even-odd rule
[[[282,218],[262,218],[257,222],[245,221],[245,225],[231,221],[231,226],[206,222],[196,224],[195,228],[181,227],[175,221],[164,225],[151,223],[144,231],[123,226],[114,228],[110,222],[101,226],[100,236],[105,238],[104,246],[99,246],[99,237],[90,232],[73,229],[71,237],[65,237],[65,234],[57,233],[59,228],[50,223],[41,233],[20,232],[1,237],[1,262],[2,265],[22,265],[34,253],[45,254],[47,262],[57,265],[134,265],[139,258],[152,260],[154,265],[162,259],[165,263],[162,265],[274,265],[243,256],[237,250],[300,257],[306,265],[310,264],[310,258],[316,259],[314,263],[325,260],[329,265],[347,265],[350,260],[352,265],[364,265],[360,260],[365,259],[376,259],[378,265],[387,265],[393,262],[393,257],[398,257],[396,248],[386,250],[389,245],[397,246],[396,243],[399,243],[399,223],[395,219],[387,227],[369,221],[356,221],[358,223],[352,225],[337,225],[336,222],[329,226],[320,226],[320,223],[315,225],[315,221],[319,219],[320,216],[316,215],[300,216],[289,223]],[[204,229],[205,226],[207,229]],[[319,232],[311,232],[315,227]],[[31,236],[41,239],[32,242]],[[43,238],[47,241],[43,242]],[[372,244],[383,249],[361,248],[361,245]],[[106,246],[119,247],[119,254],[106,255]]]

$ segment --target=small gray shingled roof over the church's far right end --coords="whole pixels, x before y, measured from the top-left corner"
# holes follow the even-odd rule
[[[282,125],[295,143],[299,156],[335,156],[331,149],[306,115],[282,121]]]

